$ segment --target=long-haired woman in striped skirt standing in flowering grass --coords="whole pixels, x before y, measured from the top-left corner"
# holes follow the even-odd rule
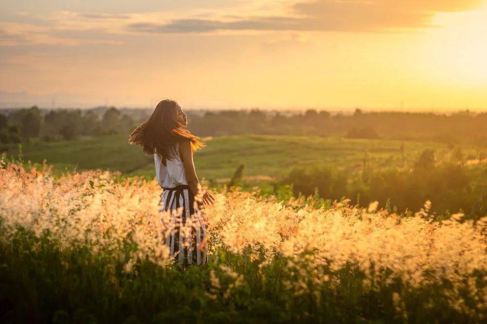
[[[203,205],[195,202],[195,196],[201,197],[204,205],[214,201],[201,189],[193,164],[193,152],[205,144],[186,125],[187,115],[179,104],[163,100],[129,137],[130,144],[141,145],[144,153],[154,155],[157,182],[163,188],[160,211],[169,211],[171,216],[166,245],[170,256],[185,266],[208,260],[206,227],[200,212]]]

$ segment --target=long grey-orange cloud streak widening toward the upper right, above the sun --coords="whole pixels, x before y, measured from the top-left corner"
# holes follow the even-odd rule
[[[210,33],[215,31],[338,31],[381,32],[431,27],[438,12],[475,9],[482,0],[316,0],[297,2],[288,16],[224,19],[183,18],[169,23],[128,24],[140,33]]]

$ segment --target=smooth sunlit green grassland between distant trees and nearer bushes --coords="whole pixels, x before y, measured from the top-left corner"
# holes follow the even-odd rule
[[[319,136],[224,136],[206,139],[207,146],[194,156],[200,179],[224,183],[241,165],[249,185],[262,185],[267,177],[281,176],[300,165],[329,165],[354,173],[362,168],[365,154],[375,168],[411,165],[425,149],[433,149],[437,160],[447,158],[454,148],[434,142],[384,139],[345,139]],[[401,151],[404,145],[404,153]],[[17,156],[15,145],[0,147]],[[476,158],[479,150],[462,147],[466,157]],[[69,170],[102,169],[126,176],[154,177],[153,157],[128,144],[127,136],[100,136],[74,141],[31,141],[22,148],[24,160],[54,165],[55,173]]]

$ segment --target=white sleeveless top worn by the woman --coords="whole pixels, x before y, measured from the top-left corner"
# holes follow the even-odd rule
[[[187,185],[183,161],[181,161],[181,158],[179,157],[179,143],[176,143],[174,151],[176,152],[176,157],[171,160],[166,159],[166,165],[162,163],[161,155],[159,155],[159,153],[154,153],[155,176],[157,178],[157,183],[163,188]]]

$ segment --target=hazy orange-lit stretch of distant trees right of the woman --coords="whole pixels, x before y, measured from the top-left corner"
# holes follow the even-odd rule
[[[188,127],[200,136],[341,134],[348,138],[433,140],[487,145],[487,112],[452,114],[362,112],[332,114],[308,109],[295,114],[268,113],[259,109],[188,114]]]

